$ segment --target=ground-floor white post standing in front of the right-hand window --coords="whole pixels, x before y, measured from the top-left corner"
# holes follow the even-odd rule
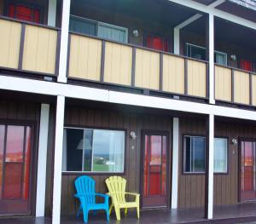
[[[206,204],[205,216],[212,219],[213,216],[213,162],[214,162],[214,115],[208,115],[208,141],[207,141],[207,174],[206,174]]]

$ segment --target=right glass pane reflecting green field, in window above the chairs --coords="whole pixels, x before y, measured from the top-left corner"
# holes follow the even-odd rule
[[[95,129],[92,171],[123,172],[125,132]]]

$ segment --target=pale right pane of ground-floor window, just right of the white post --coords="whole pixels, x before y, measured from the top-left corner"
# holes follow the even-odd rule
[[[224,138],[214,139],[214,172],[228,172],[228,140]]]

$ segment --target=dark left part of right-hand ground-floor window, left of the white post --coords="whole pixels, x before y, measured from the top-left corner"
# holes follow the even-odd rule
[[[206,138],[200,136],[184,137],[184,172],[203,173],[206,166]]]

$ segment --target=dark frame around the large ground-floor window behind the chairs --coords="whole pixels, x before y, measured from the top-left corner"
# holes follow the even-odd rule
[[[83,125],[65,125],[64,129],[101,129],[101,130],[116,130],[125,132],[125,148],[124,148],[124,171],[123,172],[95,172],[95,171],[63,171],[61,169],[62,175],[126,175],[126,158],[127,158],[127,129],[119,128],[102,128],[96,126],[83,126]],[[63,147],[62,147],[63,151]],[[62,161],[61,161],[62,163]]]

